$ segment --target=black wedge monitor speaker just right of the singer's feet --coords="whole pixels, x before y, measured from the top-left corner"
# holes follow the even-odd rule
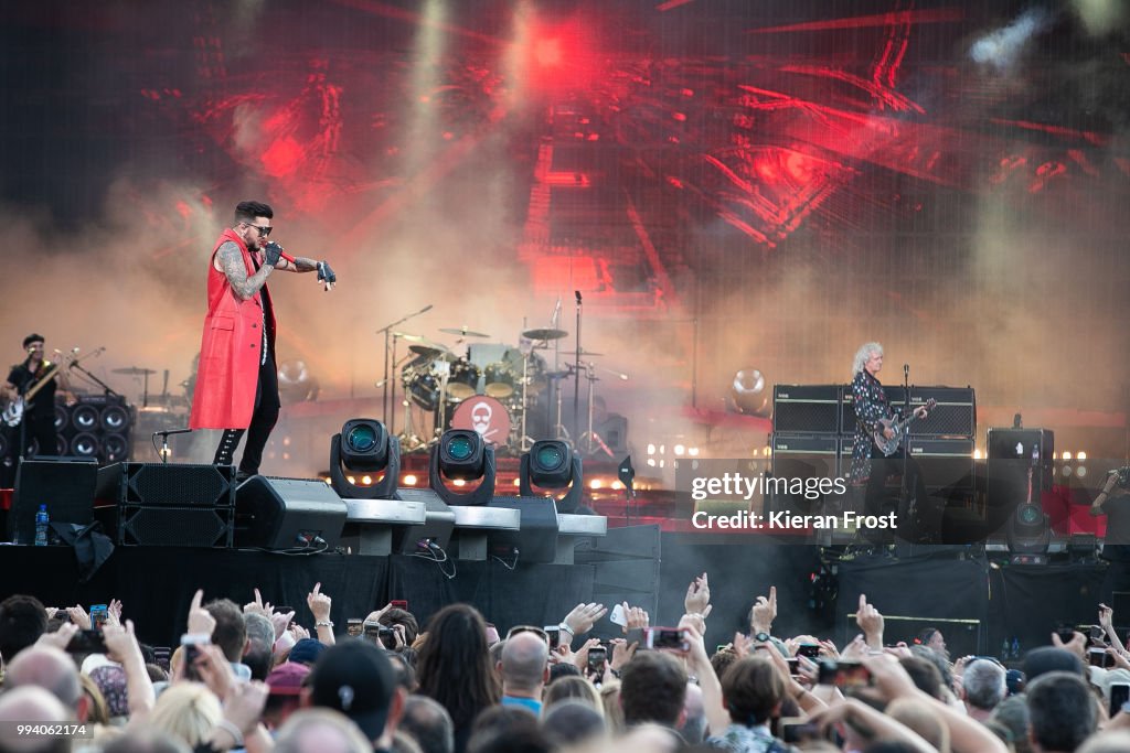
[[[346,504],[318,479],[251,476],[235,509],[237,548],[333,551],[346,523]]]

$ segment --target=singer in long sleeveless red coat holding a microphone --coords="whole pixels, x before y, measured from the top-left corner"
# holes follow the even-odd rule
[[[275,312],[267,278],[275,270],[318,272],[329,290],[337,281],[325,262],[286,256],[268,243],[273,211],[244,201],[224,230],[208,269],[208,314],[192,397],[192,429],[224,429],[214,463],[231,465],[244,432],[240,476],[259,472],[263,449],[279,415],[275,359]]]

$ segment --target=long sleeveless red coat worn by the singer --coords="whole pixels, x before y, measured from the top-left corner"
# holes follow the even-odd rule
[[[263,303],[270,294],[263,286],[247,300],[240,300],[227,275],[216,270],[216,252],[234,242],[243,254],[247,277],[255,272],[243,240],[228,228],[216,242],[208,264],[208,314],[200,341],[200,367],[192,395],[192,429],[246,429],[255,406],[259,361],[263,344]],[[275,331],[273,316],[271,332]],[[273,351],[275,343],[270,343]]]

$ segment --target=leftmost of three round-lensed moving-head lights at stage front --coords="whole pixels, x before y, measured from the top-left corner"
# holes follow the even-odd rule
[[[370,483],[358,484],[358,478],[368,478]],[[399,478],[400,443],[380,421],[349,419],[330,439],[330,485],[338,496],[393,499]]]

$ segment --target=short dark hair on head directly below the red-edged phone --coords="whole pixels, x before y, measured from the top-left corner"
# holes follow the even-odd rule
[[[620,672],[624,724],[654,721],[673,728],[687,695],[687,672],[670,654],[637,651]]]

